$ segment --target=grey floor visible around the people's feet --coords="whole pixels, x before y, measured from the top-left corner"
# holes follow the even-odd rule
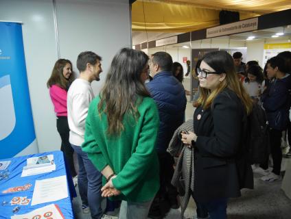
[[[285,162],[291,162],[286,159]],[[255,175],[255,189],[243,190],[242,197],[231,198],[227,209],[229,219],[290,219],[291,200],[281,190],[281,180],[266,183]],[[291,186],[291,185],[290,185]],[[105,204],[105,203],[104,203]],[[104,206],[105,207],[105,206]],[[89,219],[89,214],[82,214],[80,198],[74,198],[73,209],[75,218]],[[180,209],[171,209],[165,219],[180,218]],[[185,211],[185,218],[193,218],[196,206],[192,199]],[[115,212],[117,216],[117,212]],[[108,218],[109,219],[109,218]],[[138,218],[137,218],[138,219]]]

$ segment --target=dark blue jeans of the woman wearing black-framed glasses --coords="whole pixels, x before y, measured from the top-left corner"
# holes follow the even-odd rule
[[[197,217],[198,218],[207,218],[209,219],[226,219],[226,207],[227,207],[227,198],[220,198],[215,201],[210,201],[208,203],[198,203],[197,206]]]

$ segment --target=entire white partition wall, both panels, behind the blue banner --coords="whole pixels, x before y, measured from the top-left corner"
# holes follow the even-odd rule
[[[56,0],[60,55],[75,62],[91,50],[103,58],[104,73],[121,47],[131,47],[128,0]],[[56,116],[46,87],[58,59],[52,0],[1,0],[0,21],[22,21],[27,78],[39,151],[60,149]],[[76,68],[75,68],[76,69]],[[74,69],[74,70],[75,70]]]

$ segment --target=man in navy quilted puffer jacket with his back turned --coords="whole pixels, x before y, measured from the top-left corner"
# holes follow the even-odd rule
[[[171,185],[174,159],[166,150],[174,131],[184,121],[187,100],[182,83],[171,72],[172,64],[171,55],[165,52],[154,53],[150,59],[153,79],[147,83],[147,87],[159,109],[160,126],[156,150],[160,162],[161,183],[150,209],[149,216],[152,218],[163,218],[170,207],[178,208],[176,188]]]

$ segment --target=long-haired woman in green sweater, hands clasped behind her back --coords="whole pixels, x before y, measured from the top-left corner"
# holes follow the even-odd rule
[[[91,103],[82,150],[104,175],[102,196],[123,200],[119,218],[147,218],[159,190],[159,112],[144,85],[148,55],[121,49]]]

